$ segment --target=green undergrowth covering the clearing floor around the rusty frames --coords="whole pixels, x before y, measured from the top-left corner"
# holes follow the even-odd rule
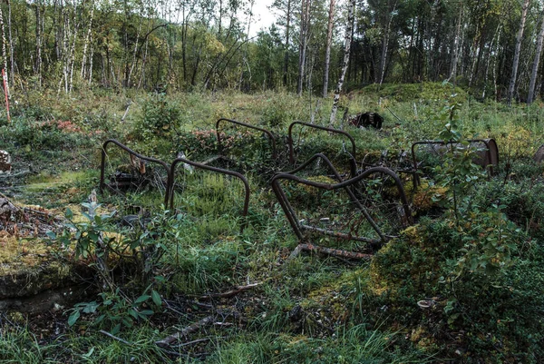
[[[415,150],[422,162],[417,180],[400,173],[414,223],[394,226],[370,261],[293,256],[296,235],[270,189],[274,172],[295,167],[288,125],[326,126],[327,100],[289,93],[26,94],[12,122],[0,125],[0,149],[13,158],[2,192],[63,212],[64,229],[34,242],[49,244],[57,259],[83,261],[93,278],[89,296],[74,306],[3,312],[0,361],[542,362],[544,168],[532,159],[544,142],[542,104],[478,103],[448,84],[391,84],[377,92],[369,86],[350,93],[343,107],[348,115],[382,114],[383,130],[335,125],[355,139],[357,169],[382,162],[403,170],[412,166],[412,143],[446,144]],[[135,192],[92,192],[106,139],[167,163],[180,155],[203,162],[219,153],[221,117],[276,138],[275,160],[267,135],[236,125],[219,130],[228,159],[210,165],[248,178],[247,219],[243,183],[184,163],[173,176],[171,208],[163,203],[166,173],[151,163],[145,173],[152,178],[139,180]],[[479,146],[467,142],[488,138],[500,152],[492,175],[475,162]],[[304,127],[293,139],[297,165],[323,152],[343,175],[350,172],[349,141]],[[141,177],[142,165],[115,151],[106,182]],[[302,176],[336,182],[324,171],[316,162]],[[386,206],[398,192],[384,175],[373,181],[361,192],[371,196],[365,207],[392,228],[373,205]],[[350,233],[353,224],[363,226],[343,202],[349,197],[297,182],[284,187],[301,223]],[[357,232],[364,229],[372,230]],[[313,242],[372,251],[362,241]]]

